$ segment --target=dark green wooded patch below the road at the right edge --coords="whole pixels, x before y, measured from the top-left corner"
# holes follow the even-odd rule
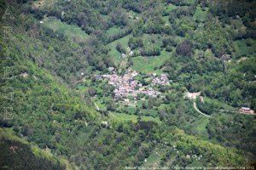
[[[217,116],[207,125],[211,139],[216,139],[225,145],[234,145],[243,150],[251,150],[255,155],[255,124],[252,117],[236,114],[234,117]]]

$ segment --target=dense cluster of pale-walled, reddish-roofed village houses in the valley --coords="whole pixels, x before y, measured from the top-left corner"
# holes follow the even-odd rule
[[[137,71],[132,71],[130,68],[127,70],[124,76],[119,76],[115,72],[113,67],[108,68],[109,71],[112,71],[112,74],[103,75],[102,77],[108,78],[108,83],[113,85],[115,88],[113,93],[116,99],[126,98],[128,96],[137,98],[137,94],[147,94],[151,97],[157,97],[160,95],[160,92],[149,86],[143,86],[142,83],[139,83],[134,79],[138,75]],[[161,77],[154,78],[154,84],[169,84],[169,80],[166,75],[161,75]]]

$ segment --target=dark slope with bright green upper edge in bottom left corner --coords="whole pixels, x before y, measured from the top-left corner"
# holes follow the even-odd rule
[[[1,160],[3,169],[71,169],[66,160],[59,160],[47,150],[28,144],[6,128],[0,129]]]

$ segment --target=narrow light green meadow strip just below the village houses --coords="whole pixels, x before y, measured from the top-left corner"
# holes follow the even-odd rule
[[[118,122],[125,122],[125,121],[131,121],[131,122],[137,122],[137,117],[136,115],[128,115],[125,113],[110,113],[109,117],[111,120],[118,121]],[[160,123],[160,119],[154,118],[152,116],[142,116],[143,121],[153,121]]]

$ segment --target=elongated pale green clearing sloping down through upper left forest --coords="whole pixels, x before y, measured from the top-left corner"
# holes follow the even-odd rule
[[[52,29],[55,32],[61,32],[74,42],[84,42],[87,37],[89,37],[88,34],[79,28],[79,26],[68,25],[55,18],[44,18],[43,21],[44,26]]]

